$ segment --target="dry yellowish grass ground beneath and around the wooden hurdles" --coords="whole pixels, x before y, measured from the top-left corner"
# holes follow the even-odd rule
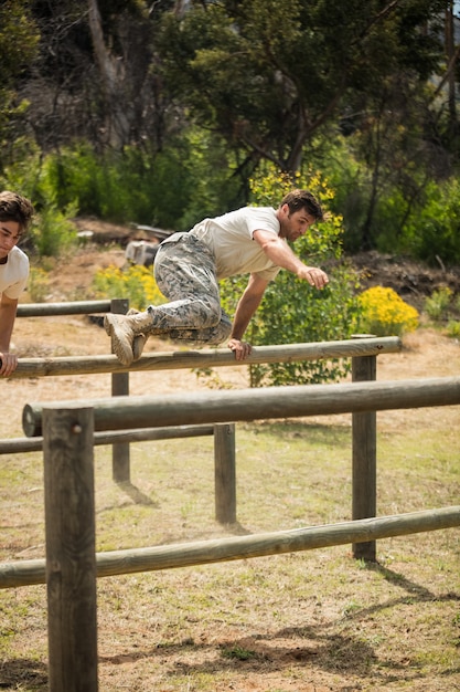
[[[36,323],[18,346],[36,344]],[[53,350],[56,322],[43,319]],[[104,353],[106,337],[72,319],[55,348]],[[162,347],[164,349],[164,347]],[[28,355],[32,355],[29,353]],[[40,354],[38,354],[40,355]],[[459,373],[460,348],[435,332],[382,356],[379,379]],[[244,370],[220,374],[245,386]],[[109,378],[2,384],[21,434],[26,401],[109,394]],[[132,394],[204,387],[190,373],[131,377]],[[90,389],[89,389],[90,388]],[[378,514],[458,504],[458,407],[378,415]],[[214,521],[208,438],[136,443],[131,482],[111,480],[96,448],[97,549],[159,545],[350,518],[350,416],[237,427],[238,524]],[[41,454],[1,465],[2,560],[44,554]],[[99,689],[104,692],[320,692],[460,690],[460,535],[447,530],[378,542],[378,563],[349,546],[98,581]],[[0,591],[0,688],[45,691],[42,586]],[[65,691],[63,691],[65,692]]]

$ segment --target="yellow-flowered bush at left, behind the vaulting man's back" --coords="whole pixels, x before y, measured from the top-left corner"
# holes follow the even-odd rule
[[[93,290],[98,297],[128,298],[130,307],[137,310],[165,302],[153,272],[139,264],[129,266],[127,270],[120,270],[114,265],[99,270],[94,276]]]

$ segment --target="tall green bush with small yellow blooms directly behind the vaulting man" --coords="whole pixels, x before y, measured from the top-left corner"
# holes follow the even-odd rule
[[[288,177],[268,170],[264,177],[253,180],[252,201],[258,206],[277,207],[292,187],[310,189],[324,206],[332,198],[332,191],[318,174],[298,176],[293,186]],[[276,281],[269,284],[252,319],[246,335],[250,343],[296,344],[351,336],[357,319],[357,286],[354,273],[342,260],[341,237],[341,219],[332,214],[296,242],[296,254],[308,264],[323,266],[330,284],[323,291],[317,291],[306,281],[281,270]],[[246,277],[223,282],[223,304],[229,314],[234,314],[246,283]],[[338,380],[346,375],[349,365],[345,360],[252,365],[250,384],[260,387]]]

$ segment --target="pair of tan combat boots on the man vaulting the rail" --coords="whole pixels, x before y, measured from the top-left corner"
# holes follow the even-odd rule
[[[122,365],[131,365],[135,355],[140,357],[147,340],[146,334],[150,332],[152,326],[152,316],[149,312],[135,315],[107,313],[104,317],[104,327],[111,337],[111,349]],[[136,337],[141,335],[143,343],[138,342],[135,346]]]

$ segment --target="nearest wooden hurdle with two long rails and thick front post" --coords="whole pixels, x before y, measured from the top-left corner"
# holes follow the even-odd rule
[[[381,352],[379,352],[381,353]],[[228,356],[228,354],[226,354]],[[356,358],[375,358],[375,355],[363,355],[361,352]],[[364,364],[363,364],[364,365]],[[363,371],[367,375],[363,379],[368,378],[368,373],[375,377],[375,363],[371,361],[363,367]],[[183,366],[185,367],[185,366]],[[191,367],[190,365],[188,367]],[[196,367],[196,366],[192,366]],[[202,366],[200,366],[202,367]],[[89,431],[93,431],[97,424],[104,426],[103,420],[107,420],[105,407],[114,407],[117,415],[116,423],[111,423],[108,430],[120,430],[120,411],[126,407],[125,412],[129,412],[130,420],[136,420],[137,424],[143,420],[149,420],[150,424],[184,424],[197,416],[199,424],[208,422],[228,422],[237,420],[256,420],[258,418],[285,418],[291,416],[310,416],[349,412],[355,416],[362,416],[362,424],[357,426],[356,436],[353,436],[354,444],[363,443],[363,434],[360,433],[361,428],[366,428],[365,421],[368,415],[374,415],[376,410],[387,410],[392,408],[415,408],[426,406],[450,406],[460,402],[460,378],[437,378],[427,380],[402,380],[398,382],[379,384],[376,381],[361,382],[360,375],[354,369],[354,381],[351,385],[317,385],[307,388],[289,387],[274,388],[270,395],[267,390],[254,391],[243,390],[235,396],[235,392],[220,392],[202,398],[201,395],[194,395],[190,400],[181,398],[162,398],[161,402],[157,399],[149,401],[148,398],[127,399],[107,399],[87,402],[82,408],[82,401],[76,402],[55,402],[53,405],[29,405],[24,408],[24,421],[28,424],[39,429],[43,426],[43,444],[45,451],[45,466],[52,465],[45,476],[54,475],[60,479],[54,484],[58,486],[58,493],[46,494],[46,524],[56,523],[63,513],[71,513],[78,508],[79,503],[74,502],[68,506],[68,492],[65,489],[71,487],[72,492],[79,494],[78,482],[83,482],[83,494],[88,497],[88,487],[90,485],[84,479],[75,479],[75,473],[81,473],[78,463],[85,466],[83,455],[92,455],[87,441],[92,438]],[[56,374],[56,373],[54,373]],[[286,391],[285,391],[286,390]],[[290,397],[288,398],[288,391]],[[271,396],[272,395],[272,396]],[[199,406],[196,406],[199,397]],[[234,398],[233,398],[234,397]],[[243,397],[243,401],[242,401]],[[338,402],[338,397],[341,398]],[[168,400],[167,400],[168,399]],[[182,401],[181,401],[182,399]],[[253,400],[254,399],[254,400]],[[290,399],[290,400],[289,400]],[[264,403],[265,402],[265,403]],[[90,417],[86,417],[89,412]],[[165,406],[164,406],[165,405]],[[137,407],[137,410],[136,410]],[[173,411],[179,408],[179,411]],[[164,409],[164,410],[163,410]],[[188,409],[192,409],[188,412]],[[197,410],[195,410],[197,409]],[[25,411],[28,411],[25,413]],[[242,412],[244,411],[244,412]],[[216,415],[217,412],[217,415]],[[114,411],[113,411],[114,413]],[[156,416],[152,418],[152,413]],[[174,418],[180,416],[180,418]],[[145,417],[145,418],[142,418]],[[110,416],[114,420],[114,415]],[[174,422],[164,423],[164,420]],[[126,423],[126,421],[125,421]],[[133,428],[137,427],[131,426]],[[190,422],[190,424],[193,424]],[[145,428],[143,424],[140,426]],[[104,434],[109,434],[106,428],[100,428]],[[374,431],[367,436],[366,444],[371,442]],[[67,440],[67,436],[73,436],[73,441]],[[82,436],[83,443],[75,443],[75,438]],[[225,437],[225,436],[224,436]],[[85,442],[86,441],[86,442]],[[56,453],[58,449],[65,449],[65,454]],[[362,450],[363,451],[363,450]],[[78,454],[78,463],[74,463],[73,454]],[[234,454],[234,452],[233,452]],[[229,448],[228,455],[232,457]],[[74,460],[76,461],[76,460]],[[362,459],[357,459],[354,468],[363,466]],[[64,469],[65,466],[65,469]],[[367,466],[367,468],[366,468]],[[79,469],[79,471],[78,471]],[[225,469],[227,470],[227,469]],[[373,459],[366,457],[364,464],[365,473],[374,473]],[[356,476],[360,475],[356,473]],[[372,476],[370,476],[372,480]],[[356,483],[360,479],[354,479]],[[68,485],[69,484],[69,485]],[[367,486],[372,490],[372,482]],[[355,492],[355,491],[354,491]],[[359,491],[356,491],[360,496]],[[354,496],[354,495],[353,495]],[[361,504],[355,511],[366,512],[368,507],[363,508]],[[145,572],[146,569],[165,569],[172,567],[181,567],[186,565],[207,564],[215,562],[224,562],[228,559],[242,559],[246,557],[256,557],[263,555],[274,555],[290,553],[295,551],[313,549],[315,547],[325,547],[331,545],[341,545],[353,543],[354,548],[363,545],[368,547],[375,545],[375,539],[407,535],[418,533],[420,531],[435,531],[460,525],[460,507],[443,507],[440,510],[430,510],[426,512],[411,513],[410,515],[397,515],[379,518],[353,517],[357,521],[346,522],[343,524],[325,525],[322,527],[309,527],[303,530],[295,530],[292,532],[278,532],[272,534],[260,534],[255,536],[243,536],[227,538],[221,541],[200,542],[194,544],[181,544],[175,546],[158,546],[153,548],[140,548],[136,551],[111,552],[109,554],[98,554],[93,557],[92,546],[94,545],[94,526],[92,525],[90,512],[86,511],[83,515],[89,514],[88,525],[75,522],[74,526],[83,532],[78,537],[75,534],[71,544],[73,549],[66,552],[63,544],[54,541],[52,534],[51,548],[46,553],[46,562],[43,560],[22,560],[21,563],[7,564],[0,566],[0,587],[7,587],[8,579],[17,579],[15,586],[21,584],[42,583],[45,578],[46,583],[53,583],[53,588],[49,589],[49,612],[53,614],[52,626],[53,632],[50,633],[50,692],[76,692],[76,690],[85,689],[86,692],[96,692],[97,690],[97,630],[95,625],[95,597],[92,605],[93,594],[95,594],[95,581],[99,576],[109,576],[115,574],[129,574],[133,572]],[[71,522],[72,517],[67,516]],[[46,531],[49,531],[46,528]],[[54,543],[53,543],[54,541]],[[61,534],[61,542],[66,543],[66,537]],[[49,537],[47,537],[49,542]],[[83,548],[82,548],[83,546]],[[78,556],[79,549],[85,551],[85,555]],[[366,555],[364,551],[362,557]],[[371,557],[372,559],[372,557]],[[66,564],[67,560],[67,564]],[[68,562],[69,560],[69,562]],[[78,577],[77,572],[72,566],[78,564],[86,565],[85,579]],[[33,563],[33,565],[32,565]],[[40,564],[39,564],[40,563]],[[50,564],[49,564],[50,563]],[[4,569],[7,572],[3,572]],[[35,570],[35,572],[34,572]],[[34,576],[32,576],[32,573]],[[53,576],[56,577],[53,579]],[[64,578],[62,578],[64,577]],[[71,581],[67,580],[71,579]],[[35,581],[28,581],[34,578]],[[78,583],[72,581],[77,578]],[[11,585],[11,583],[10,583]],[[81,587],[81,591],[78,588]],[[72,602],[69,595],[73,595]],[[54,602],[51,602],[53,599]],[[78,632],[79,625],[73,618],[71,609],[75,610],[75,604],[79,605],[83,600],[83,611],[88,615],[89,637],[86,642],[81,642],[82,637],[66,637],[64,629],[74,628]],[[65,610],[68,609],[68,612]],[[50,616],[51,617],[51,616]],[[68,635],[68,632],[67,632]],[[82,667],[73,667],[72,661],[88,660],[88,668],[82,672]],[[69,662],[69,664],[68,664]],[[95,663],[96,662],[96,663]],[[96,667],[96,674],[94,673]],[[64,671],[63,668],[66,668]],[[68,674],[71,673],[71,674]],[[67,674],[63,682],[63,675]],[[64,688],[63,688],[64,684]],[[82,686],[83,685],[83,686]]]

